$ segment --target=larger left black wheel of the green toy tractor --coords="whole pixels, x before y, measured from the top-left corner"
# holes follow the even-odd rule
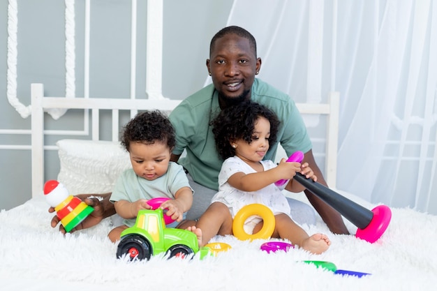
[[[121,238],[117,247],[117,258],[127,255],[133,260],[149,260],[153,250],[149,241],[138,234],[127,234]]]

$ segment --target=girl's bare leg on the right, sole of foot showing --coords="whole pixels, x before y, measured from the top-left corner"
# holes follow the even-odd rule
[[[272,237],[288,239],[300,248],[315,254],[323,253],[331,244],[326,234],[316,233],[310,237],[302,227],[292,221],[290,216],[286,214],[276,215],[275,220],[276,227]]]

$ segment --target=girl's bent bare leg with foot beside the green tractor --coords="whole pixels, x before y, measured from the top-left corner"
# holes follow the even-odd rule
[[[200,216],[195,226],[188,226],[186,230],[197,235],[199,246],[205,246],[217,234],[232,234],[232,216],[225,204],[214,202]]]

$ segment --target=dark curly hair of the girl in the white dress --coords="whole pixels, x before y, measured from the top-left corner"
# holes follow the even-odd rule
[[[223,160],[235,156],[235,149],[231,147],[230,142],[234,140],[245,140],[249,144],[252,142],[255,122],[259,117],[264,117],[270,122],[269,146],[272,146],[276,142],[280,121],[276,114],[264,105],[250,100],[244,101],[221,110],[211,121],[216,149]]]

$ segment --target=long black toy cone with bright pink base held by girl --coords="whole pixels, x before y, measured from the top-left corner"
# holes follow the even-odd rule
[[[356,237],[373,244],[383,235],[385,230],[387,230],[392,218],[392,211],[389,207],[379,205],[370,211],[322,184],[313,181],[313,179],[306,179],[303,174],[296,173],[293,179],[298,181],[321,200],[325,201],[336,211],[339,211],[348,221],[358,227],[357,233],[355,234]]]

